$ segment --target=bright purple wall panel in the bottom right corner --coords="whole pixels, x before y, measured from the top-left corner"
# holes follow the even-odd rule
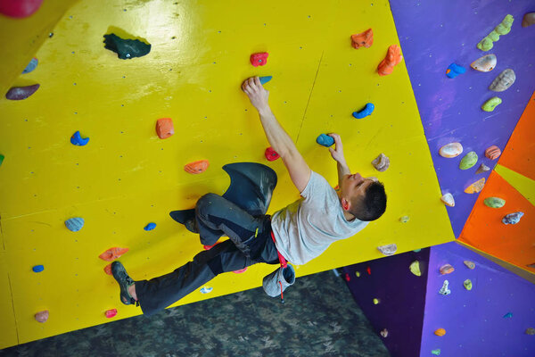
[[[468,269],[465,260],[475,268]],[[445,263],[455,271],[440,275]],[[450,295],[439,294],[445,279]],[[472,281],[472,290],[463,286],[465,279]],[[535,356],[535,336],[525,333],[535,328],[534,302],[535,285],[527,280],[455,242],[433,246],[420,356],[436,349],[445,356]],[[508,313],[512,317],[504,317]],[[446,329],[446,335],[435,336],[437,328]]]

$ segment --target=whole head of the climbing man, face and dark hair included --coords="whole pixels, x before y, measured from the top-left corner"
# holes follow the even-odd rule
[[[383,184],[376,178],[363,178],[359,173],[342,178],[340,199],[343,210],[358,220],[377,220],[386,210]]]

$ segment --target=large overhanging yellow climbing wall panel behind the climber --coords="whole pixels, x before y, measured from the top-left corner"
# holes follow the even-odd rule
[[[374,45],[353,49],[350,35],[368,28]],[[111,32],[146,39],[151,53],[119,60],[103,48]],[[202,245],[169,212],[222,194],[224,164],[276,170],[270,213],[299,197],[282,162],[264,158],[268,142],[240,90],[253,75],[274,76],[270,104],[313,170],[336,185],[336,165],[315,139],[338,132],[350,168],[377,176],[389,196],[383,218],[296,267],[298,276],[380,258],[377,245],[396,243],[402,253],[454,239],[405,62],[390,76],[376,73],[388,46],[399,44],[388,1],[99,0],[74,5],[53,33],[37,70],[17,79],[40,83],[37,93],[0,99],[0,323],[9,332],[0,348],[139,314],[119,302],[98,255],[128,247],[120,260],[135,279],[189,261]],[[250,54],[263,51],[268,64],[252,67]],[[368,102],[372,116],[353,119]],[[154,130],[162,117],[175,124],[165,140]],[[90,137],[86,146],[70,144],[77,130]],[[381,153],[391,159],[385,172],[370,164]],[[201,175],[183,170],[202,159],[210,168]],[[400,223],[404,215],[410,220]],[[63,223],[72,217],[86,221],[76,233]],[[149,222],[157,227],[144,231]],[[37,264],[45,270],[32,272]],[[210,294],[177,304],[260,286],[274,269],[223,274]],[[106,319],[114,308],[118,315]],[[44,324],[34,320],[41,310],[50,311]]]

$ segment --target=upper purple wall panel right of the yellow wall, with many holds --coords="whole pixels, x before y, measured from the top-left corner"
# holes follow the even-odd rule
[[[391,10],[440,187],[456,200],[448,212],[458,237],[477,198],[465,194],[465,187],[488,177],[489,172],[475,174],[479,163],[490,168],[496,164],[484,157],[484,150],[490,145],[504,149],[535,89],[535,26],[521,26],[523,14],[535,11],[535,5],[533,0],[391,0]],[[476,44],[508,13],[514,16],[511,32],[501,36],[490,51],[477,49]],[[470,63],[484,54],[497,55],[496,69],[472,70]],[[447,78],[445,71],[452,62],[465,66],[466,73]],[[514,85],[505,92],[491,92],[490,83],[507,68],[516,73]],[[481,111],[481,104],[494,95],[503,104],[494,112]],[[479,155],[480,162],[473,169],[458,169],[464,154],[454,159],[440,157],[440,146],[453,141],[462,143],[464,153],[473,150]]]

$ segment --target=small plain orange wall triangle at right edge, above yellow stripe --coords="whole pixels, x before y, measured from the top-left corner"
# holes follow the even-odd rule
[[[535,92],[499,158],[500,165],[535,179]]]

